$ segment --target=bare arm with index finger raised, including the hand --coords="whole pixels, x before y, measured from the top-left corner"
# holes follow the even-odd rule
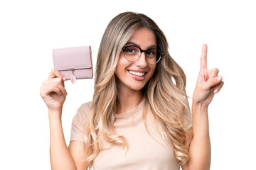
[[[188,162],[182,166],[183,170],[210,169],[210,136],[208,123],[208,106],[213,96],[223,86],[222,77],[218,76],[218,69],[207,69],[207,45],[203,45],[201,69],[193,94],[192,118],[193,130],[188,130]]]

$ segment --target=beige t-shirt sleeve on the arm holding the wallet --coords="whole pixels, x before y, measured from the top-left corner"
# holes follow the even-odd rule
[[[85,142],[85,124],[89,114],[90,103],[83,103],[72,120],[70,142],[73,140]]]

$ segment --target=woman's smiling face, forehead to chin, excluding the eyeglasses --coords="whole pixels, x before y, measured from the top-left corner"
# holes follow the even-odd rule
[[[137,45],[142,50],[156,48],[156,37],[149,28],[138,28],[124,46],[127,45]],[[119,79],[119,89],[141,90],[154,74],[155,68],[156,64],[146,62],[145,52],[142,52],[136,62],[129,62],[124,57],[124,52],[121,52],[115,70]]]

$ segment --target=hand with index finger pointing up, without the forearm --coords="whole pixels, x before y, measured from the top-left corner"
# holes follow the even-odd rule
[[[223,87],[223,77],[218,76],[218,69],[207,68],[207,45],[203,45],[201,55],[201,68],[196,83],[196,89],[193,93],[193,103],[200,104],[206,108],[213,100],[214,94]]]

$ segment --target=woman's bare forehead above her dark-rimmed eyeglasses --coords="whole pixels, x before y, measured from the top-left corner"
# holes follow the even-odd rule
[[[138,28],[134,31],[132,37],[129,38],[127,45],[129,45],[129,42],[134,42],[139,45],[139,47],[146,48],[156,45],[156,36],[149,28]]]

